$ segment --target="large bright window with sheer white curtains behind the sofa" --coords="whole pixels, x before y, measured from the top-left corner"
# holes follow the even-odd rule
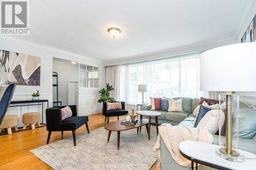
[[[147,84],[149,97],[199,97],[199,53],[121,65],[120,100],[140,103],[139,84]]]

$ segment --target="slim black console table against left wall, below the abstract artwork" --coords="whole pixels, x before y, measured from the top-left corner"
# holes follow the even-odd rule
[[[39,99],[39,100],[15,100],[11,101],[11,105],[9,107],[19,107],[19,106],[35,106],[41,105],[42,106],[42,124],[44,124],[44,103],[47,102],[47,108],[49,107],[49,100],[48,99]],[[34,104],[36,103],[36,104]],[[22,105],[20,105],[22,104]]]

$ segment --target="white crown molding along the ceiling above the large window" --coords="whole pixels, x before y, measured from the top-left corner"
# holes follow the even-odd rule
[[[223,37],[222,39],[209,41],[209,42],[205,42],[205,43],[200,43],[200,44],[196,44],[196,45],[190,45],[190,46],[185,46],[185,47],[180,47],[180,48],[173,48],[173,49],[169,49],[169,50],[165,50],[165,51],[147,53],[147,54],[143,54],[143,55],[124,57],[121,59],[105,62],[103,65],[110,66],[110,65],[116,65],[117,63],[118,64],[126,64],[126,63],[132,63],[132,62],[165,58],[165,57],[181,55],[181,54],[202,52],[205,50],[209,50],[210,48],[213,48],[213,47],[221,46],[221,45],[218,45],[220,43],[222,44],[222,43],[229,42],[229,41],[235,43],[236,39],[237,39],[237,37],[227,36],[227,37]],[[225,45],[225,44],[223,44],[223,45]],[[207,47],[205,47],[205,46],[207,46]],[[198,50],[193,51],[193,48],[194,49],[198,48]],[[176,52],[177,52],[177,54],[176,54]],[[179,53],[179,52],[184,52],[184,53]],[[153,56],[156,56],[156,57],[153,57]]]

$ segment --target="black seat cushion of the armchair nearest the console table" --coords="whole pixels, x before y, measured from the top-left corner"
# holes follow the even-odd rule
[[[61,130],[76,130],[83,124],[88,122],[88,116],[73,116],[62,120]]]

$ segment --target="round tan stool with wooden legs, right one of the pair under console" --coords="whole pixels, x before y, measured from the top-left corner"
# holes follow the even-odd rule
[[[22,123],[24,124],[23,130],[27,128],[28,124],[31,125],[32,129],[35,129],[35,123],[37,124],[37,127],[39,127],[40,115],[39,112],[24,113],[22,115]]]

